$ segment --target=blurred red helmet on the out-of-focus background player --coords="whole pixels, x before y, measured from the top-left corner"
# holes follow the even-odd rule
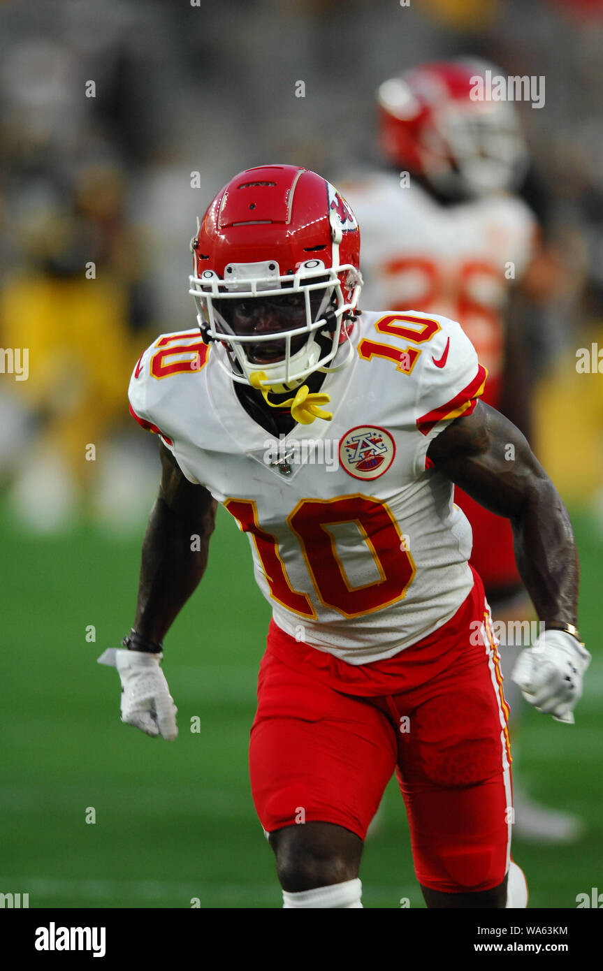
[[[385,156],[452,198],[517,188],[527,168],[514,105],[476,97],[486,69],[497,73],[470,59],[423,64],[378,91]]]

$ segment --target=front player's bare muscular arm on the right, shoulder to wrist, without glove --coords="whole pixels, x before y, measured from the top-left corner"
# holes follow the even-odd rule
[[[579,563],[571,522],[519,429],[479,402],[427,454],[455,485],[511,520],[519,573],[539,618],[576,625]]]

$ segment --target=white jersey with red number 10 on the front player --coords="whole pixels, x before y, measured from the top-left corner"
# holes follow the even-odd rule
[[[282,441],[251,419],[198,330],[159,337],[129,398],[186,478],[247,532],[276,623],[363,664],[436,630],[473,586],[471,527],[426,452],[475,407],[486,372],[444,317],[363,312],[352,346],[352,363],[320,388],[332,420]]]

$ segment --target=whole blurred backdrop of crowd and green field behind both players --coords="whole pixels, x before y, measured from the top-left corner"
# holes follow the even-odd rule
[[[518,106],[548,253],[523,311],[533,444],[576,528],[594,654],[575,728],[529,713],[521,742],[535,794],[586,832],[514,854],[532,906],[575,907],[600,882],[603,379],[576,352],[603,350],[602,49],[602,0],[0,6],[0,347],[28,350],[26,380],[6,354],[0,373],[0,891],[31,907],[281,906],[247,767],[269,610],[234,522],[220,513],[167,640],[178,743],[120,725],[117,678],[95,665],[132,623],[158,483],[129,375],[157,334],[194,326],[189,241],[231,176],[288,162],[338,184],[378,167],[378,85],[468,53],[546,78],[545,107]],[[365,906],[423,906],[395,787],[361,876]]]

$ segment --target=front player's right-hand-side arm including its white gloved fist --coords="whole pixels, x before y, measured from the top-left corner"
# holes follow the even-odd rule
[[[512,677],[538,711],[573,724],[590,654],[577,631],[578,553],[557,490],[519,429],[484,403],[453,421],[428,455],[477,502],[511,520],[519,574],[547,628],[519,654]]]

